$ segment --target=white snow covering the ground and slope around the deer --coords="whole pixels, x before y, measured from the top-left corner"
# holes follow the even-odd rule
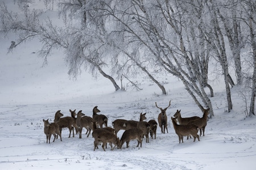
[[[183,117],[203,113],[174,76],[159,76],[166,82],[166,96],[146,77],[140,78],[142,91],[114,92],[102,76],[94,79],[82,73],[70,79],[61,51],[55,51],[42,67],[43,58],[34,53],[40,48],[36,40],[7,54],[12,38],[0,39],[0,169],[255,169],[255,118],[245,117],[240,87],[232,88],[233,110],[228,113],[222,82],[210,82],[215,116],[208,121],[205,136],[179,143],[171,116],[177,109]],[[83,130],[82,139],[78,134],[68,138],[68,129],[63,130],[62,142],[46,143],[43,119],[53,122],[57,110],[64,116],[70,116],[69,109],[92,116],[98,105],[112,127],[116,118],[138,120],[141,112],[147,113],[146,121],[157,121],[160,110],[155,102],[165,108],[170,100],[169,133],[160,133],[158,126],[156,139],[150,138],[150,143],[144,139],[142,147],[131,141],[129,148],[93,151],[92,135],[86,138]],[[118,132],[119,138],[122,133]]]

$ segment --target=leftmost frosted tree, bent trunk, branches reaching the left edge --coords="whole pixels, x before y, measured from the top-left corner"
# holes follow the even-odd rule
[[[18,39],[11,43],[10,49],[13,50],[17,45],[34,38],[39,38],[43,42],[39,55],[44,57],[44,63],[47,63],[47,57],[53,49],[63,48],[67,54],[66,61],[69,63],[69,75],[76,76],[81,73],[81,66],[85,69],[89,67],[92,75],[96,76],[95,71],[108,78],[114,85],[115,91],[119,90],[118,84],[114,78],[106,74],[103,67],[107,65],[107,58],[104,56],[106,48],[104,41],[104,30],[94,32],[94,25],[86,26],[86,15],[84,12],[85,1],[62,2],[63,16],[65,27],[53,25],[51,20],[40,20],[39,16],[42,11],[30,10],[28,6],[22,8],[23,18],[19,17],[13,11],[8,11],[5,5],[1,5],[2,30],[4,32],[16,32]],[[77,11],[72,14],[73,11]],[[81,15],[80,15],[81,14]],[[80,16],[80,21],[77,17]],[[93,19],[93,18],[92,18]],[[77,24],[77,23],[80,24]],[[85,29],[86,28],[86,29]]]

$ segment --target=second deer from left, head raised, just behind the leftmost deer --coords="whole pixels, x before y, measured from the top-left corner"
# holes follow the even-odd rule
[[[69,129],[69,136],[71,136],[71,131],[73,131],[73,137],[75,137],[74,134],[74,127],[77,127],[75,120],[72,117],[62,117],[63,114],[60,113],[60,110],[55,113],[54,122],[59,125],[60,128],[60,134],[62,131],[62,128],[68,128]]]

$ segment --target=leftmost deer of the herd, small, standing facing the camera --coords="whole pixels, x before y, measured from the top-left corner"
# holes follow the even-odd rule
[[[44,134],[46,134],[46,143],[48,143],[48,141],[50,143],[52,135],[54,137],[52,142],[55,142],[56,134],[60,136],[60,141],[62,141],[59,125],[57,125],[56,123],[49,124],[49,119],[47,120],[43,119],[43,122],[44,122]]]

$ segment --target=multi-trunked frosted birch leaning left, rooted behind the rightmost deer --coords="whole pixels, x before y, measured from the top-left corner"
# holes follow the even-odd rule
[[[200,69],[188,50],[184,13],[179,6],[178,1],[113,1],[113,6],[105,8],[104,13],[116,21],[113,32],[124,31],[124,42],[140,42],[151,53],[147,57],[180,78],[199,108],[203,111],[203,105],[209,107],[213,116]]]

